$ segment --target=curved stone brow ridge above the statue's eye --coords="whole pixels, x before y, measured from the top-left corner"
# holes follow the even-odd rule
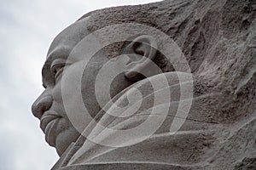
[[[44,62],[44,66],[42,69],[42,79],[43,79],[43,87],[47,88],[47,79],[49,78],[50,66],[55,59],[67,59],[71,50],[68,47],[60,47],[55,48],[51,53],[49,53],[49,57],[47,57]]]

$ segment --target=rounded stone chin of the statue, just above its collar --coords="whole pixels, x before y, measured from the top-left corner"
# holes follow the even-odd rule
[[[75,129],[67,129],[60,133],[55,140],[55,149],[57,154],[61,156],[68,146],[79,138],[80,134]]]

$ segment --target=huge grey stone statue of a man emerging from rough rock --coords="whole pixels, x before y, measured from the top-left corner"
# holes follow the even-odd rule
[[[256,3],[85,14],[55,37],[32,105],[52,169],[256,167]]]

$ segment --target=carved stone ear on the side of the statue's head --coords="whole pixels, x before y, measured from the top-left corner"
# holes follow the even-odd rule
[[[150,77],[156,74],[150,69],[153,59],[157,54],[157,43],[154,37],[139,36],[124,48],[124,54],[128,55],[130,61],[125,66],[125,77],[136,82],[142,77]]]

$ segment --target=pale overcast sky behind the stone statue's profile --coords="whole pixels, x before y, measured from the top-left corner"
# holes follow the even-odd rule
[[[45,170],[58,159],[31,105],[43,91],[41,68],[53,38],[83,14],[157,0],[0,0],[0,165]]]

